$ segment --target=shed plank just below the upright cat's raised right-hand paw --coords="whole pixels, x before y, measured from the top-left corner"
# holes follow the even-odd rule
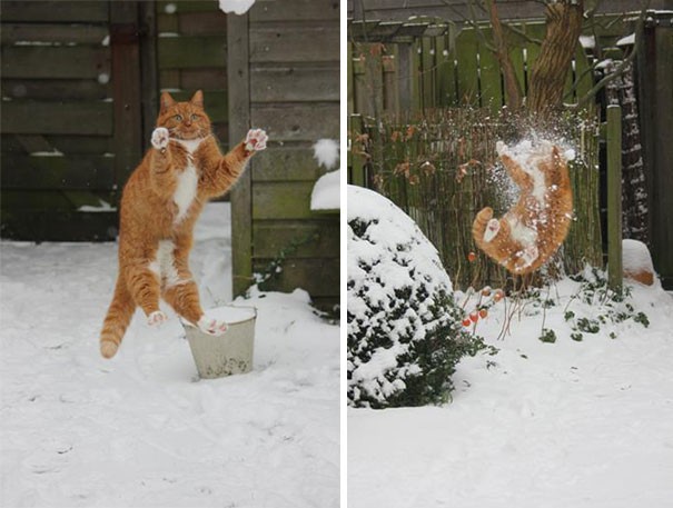
[[[324,172],[313,148],[273,146],[255,161],[253,181],[316,181]]]

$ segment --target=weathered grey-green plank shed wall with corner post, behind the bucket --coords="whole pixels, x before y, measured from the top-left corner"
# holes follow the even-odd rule
[[[231,143],[250,126],[269,135],[231,197],[235,292],[285,251],[266,287],[301,287],[318,305],[336,303],[338,215],[313,212],[310,193],[325,172],[313,145],[339,138],[339,2],[259,0],[229,17],[228,36]]]

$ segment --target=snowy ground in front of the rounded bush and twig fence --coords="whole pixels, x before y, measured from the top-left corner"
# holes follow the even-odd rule
[[[649,328],[576,342],[563,318],[575,288],[561,282],[547,310],[555,343],[538,340],[540,313],[496,341],[494,307],[478,332],[501,352],[461,362],[453,404],[349,409],[348,507],[673,507],[673,298],[635,285]]]

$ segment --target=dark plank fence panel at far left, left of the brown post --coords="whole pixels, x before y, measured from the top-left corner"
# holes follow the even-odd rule
[[[2,2],[2,236],[115,237],[113,211],[81,207],[113,207],[123,179],[110,78],[125,14],[107,1]]]

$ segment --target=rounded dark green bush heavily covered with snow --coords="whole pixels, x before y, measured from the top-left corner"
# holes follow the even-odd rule
[[[384,408],[439,404],[483,341],[462,326],[437,250],[383,196],[348,187],[348,400]]]

